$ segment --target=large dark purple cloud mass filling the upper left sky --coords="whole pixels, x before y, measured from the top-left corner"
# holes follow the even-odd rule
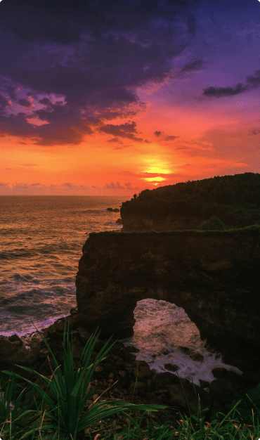
[[[145,103],[133,89],[169,75],[171,60],[195,35],[190,8],[200,3],[1,1],[0,132],[36,139],[36,145],[78,145],[93,133],[92,125],[143,111]],[[188,36],[184,27],[180,31],[180,15]],[[30,100],[18,96],[22,91]],[[54,104],[51,94],[65,103]],[[15,115],[15,103],[25,112]],[[34,117],[48,124],[29,124]],[[111,134],[142,141],[124,130]]]

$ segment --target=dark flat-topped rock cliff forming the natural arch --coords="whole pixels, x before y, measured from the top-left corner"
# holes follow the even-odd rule
[[[183,307],[205,346],[259,370],[260,226],[234,231],[91,233],[76,277],[75,321],[133,335],[136,302]],[[100,337],[101,337],[100,336]]]

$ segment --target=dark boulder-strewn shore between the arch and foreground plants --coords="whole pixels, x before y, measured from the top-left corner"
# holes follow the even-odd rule
[[[48,328],[41,329],[41,334],[47,340],[54,356],[63,369],[63,332],[65,321],[70,324],[71,335],[74,340],[73,357],[74,368],[77,367],[84,346],[91,334],[83,327],[77,326],[71,315],[60,318]],[[91,361],[103,347],[105,339],[98,339]],[[122,342],[116,342],[109,351],[107,357],[98,365],[91,380],[91,388],[96,387],[93,400],[103,392],[103,400],[119,399],[132,403],[157,403],[167,405],[169,408],[164,412],[157,412],[152,417],[154,424],[171,422],[178,427],[177,420],[180,415],[193,415],[197,413],[198,402],[194,388],[200,396],[200,408],[209,407],[204,420],[210,422],[210,416],[214,410],[223,412],[226,403],[231,403],[235,392],[246,393],[250,387],[255,387],[260,382],[260,370],[257,373],[244,371],[238,375],[225,368],[214,368],[212,373],[215,380],[206,382],[200,380],[200,387],[190,383],[187,379],[180,379],[174,374],[174,364],[169,365],[171,373],[155,373],[150,370],[145,361],[136,361],[135,347],[125,347]],[[0,336],[0,370],[12,370],[40,384],[37,375],[30,374],[16,367],[15,364],[27,366],[41,375],[50,377],[51,368],[54,370],[51,354],[39,334],[30,334],[23,337],[12,335],[11,337]],[[51,365],[51,368],[50,368]],[[44,384],[44,382],[42,382]],[[136,387],[136,388],[135,388]],[[209,387],[209,392],[204,388]],[[183,394],[183,389],[186,396]],[[134,398],[134,399],[133,399]],[[187,401],[186,401],[187,399]],[[188,405],[187,405],[188,402]],[[89,404],[92,401],[89,401]],[[190,410],[189,410],[190,408]],[[86,408],[87,409],[87,408]],[[203,413],[204,414],[204,413]]]

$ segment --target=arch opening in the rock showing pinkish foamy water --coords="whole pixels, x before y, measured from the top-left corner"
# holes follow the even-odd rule
[[[136,360],[147,362],[153,373],[168,371],[209,392],[215,379],[212,369],[226,364],[220,354],[205,349],[200,331],[183,307],[146,298],[136,303],[134,319],[134,335],[120,341],[133,349]]]

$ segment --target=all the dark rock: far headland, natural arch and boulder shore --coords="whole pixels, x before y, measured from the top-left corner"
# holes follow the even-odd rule
[[[194,385],[201,408],[209,407],[209,422],[237,392],[245,394],[255,387],[260,382],[259,201],[260,175],[245,173],[145,190],[124,202],[122,233],[91,233],[83,246],[76,276],[77,308],[42,332],[58,363],[63,365],[65,321],[75,338],[76,368],[84,344],[98,326],[100,339],[93,356],[111,335],[133,335],[138,301],[164,299],[186,311],[205,347],[243,372],[214,368],[215,380]],[[221,231],[197,230],[211,216],[219,218]],[[115,344],[96,368],[93,399],[107,390],[104,400],[133,401],[136,383],[134,401],[169,407],[155,415],[155,425],[156,419],[160,424],[165,418],[174,424],[178,410],[188,416],[196,413],[193,384],[178,378],[174,364],[167,366],[169,372],[156,373],[144,361],[136,361],[137,351]],[[199,354],[187,347],[183,351],[198,361]],[[0,370],[20,374],[18,364],[51,376],[54,365],[48,355],[39,335],[0,336]]]

